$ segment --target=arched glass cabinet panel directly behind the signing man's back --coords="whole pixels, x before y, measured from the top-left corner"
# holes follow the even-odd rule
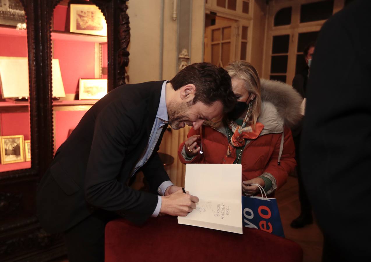
[[[108,91],[105,17],[92,2],[70,2],[60,2],[53,13],[54,153]]]

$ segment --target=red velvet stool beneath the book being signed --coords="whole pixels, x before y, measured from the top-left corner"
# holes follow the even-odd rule
[[[244,227],[243,235],[178,225],[162,216],[135,226],[124,219],[105,230],[105,262],[118,261],[244,261],[301,262],[301,247],[285,238]]]

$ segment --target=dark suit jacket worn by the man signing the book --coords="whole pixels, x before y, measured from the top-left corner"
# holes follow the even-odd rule
[[[162,83],[123,85],[109,92],[59,147],[37,191],[37,214],[48,232],[65,231],[95,209],[139,223],[151,216],[158,196],[132,190],[127,181],[147,147]],[[157,154],[166,127],[141,168],[153,191],[170,180]]]

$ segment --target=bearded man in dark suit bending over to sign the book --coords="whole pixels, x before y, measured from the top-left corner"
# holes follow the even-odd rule
[[[64,232],[69,261],[103,261],[104,228],[117,216],[142,223],[191,212],[198,198],[170,182],[157,154],[162,135],[168,124],[197,129],[234,102],[228,73],[209,63],[187,66],[170,82],[119,86],[96,102],[37,190],[39,221],[48,232]],[[139,170],[158,195],[128,187]]]

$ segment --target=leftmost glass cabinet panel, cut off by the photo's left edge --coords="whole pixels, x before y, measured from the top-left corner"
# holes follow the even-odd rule
[[[26,17],[19,0],[0,4],[0,172],[31,167]]]

